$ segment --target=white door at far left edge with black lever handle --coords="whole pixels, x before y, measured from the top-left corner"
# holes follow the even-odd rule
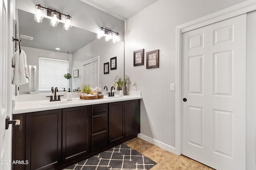
[[[11,125],[5,130],[5,118],[10,116],[8,109],[8,4],[7,0],[0,0],[0,170],[11,169]]]

